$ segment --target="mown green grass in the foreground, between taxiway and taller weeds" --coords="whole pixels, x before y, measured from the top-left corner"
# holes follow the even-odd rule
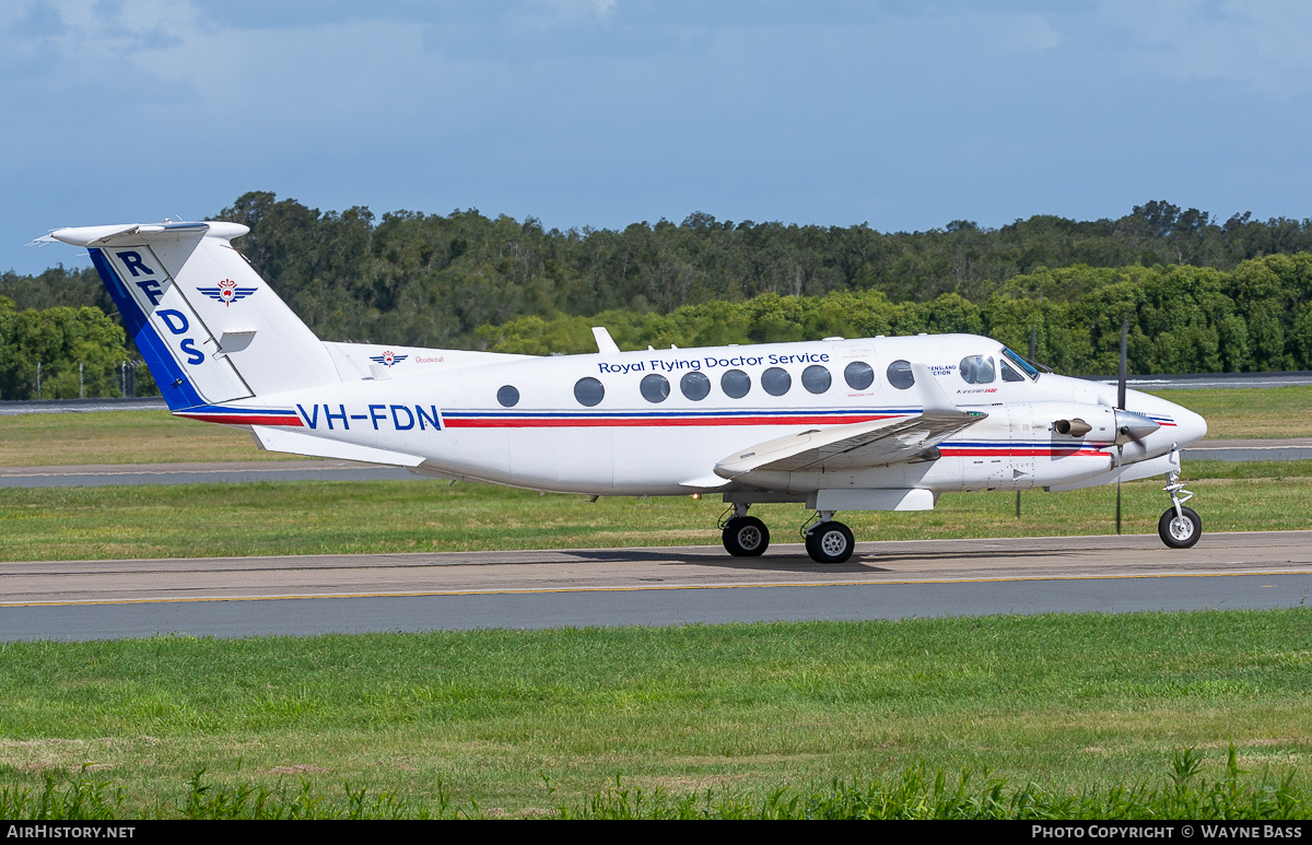
[[[337,806],[349,783],[541,815],[614,804],[617,777],[630,806],[764,806],[924,766],[975,772],[972,795],[992,778],[1105,798],[1168,789],[1183,749],[1224,781],[1233,744],[1237,768],[1305,791],[1309,642],[1295,609],[8,643],[0,786],[81,773],[121,810],[182,807],[205,766],[215,790],[286,800],[304,779]]]

